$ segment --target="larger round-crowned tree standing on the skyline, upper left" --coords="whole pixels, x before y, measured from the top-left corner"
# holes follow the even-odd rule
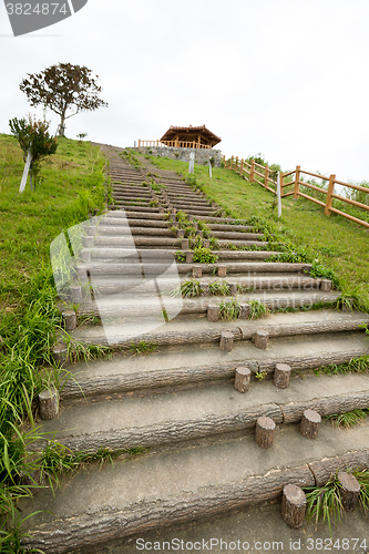
[[[99,98],[102,91],[96,82],[99,76],[93,78],[91,73],[84,65],[59,63],[41,73],[28,73],[28,79],[23,79],[19,88],[32,106],[42,104],[60,115],[59,135],[64,136],[65,120],[79,112],[107,106]],[[66,115],[69,110],[74,110],[74,113]]]

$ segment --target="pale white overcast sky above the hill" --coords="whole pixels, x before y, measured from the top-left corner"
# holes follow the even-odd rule
[[[0,132],[42,115],[19,90],[27,73],[70,62],[100,76],[109,102],[70,119],[72,138],[133,146],[206,124],[226,156],[369,181],[368,24],[368,0],[89,0],[14,38],[1,3]]]

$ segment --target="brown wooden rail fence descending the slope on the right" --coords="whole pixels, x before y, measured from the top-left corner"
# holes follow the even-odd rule
[[[238,157],[232,156],[230,160],[226,161],[225,156],[223,156],[224,161],[224,167],[226,170],[232,170],[239,175],[242,175],[244,178],[247,178],[247,181],[250,181],[252,183],[258,183],[262,185],[264,188],[267,191],[270,191],[271,193],[275,193],[276,191],[274,188],[270,188],[269,183],[275,182],[269,177],[270,175],[270,168],[266,165],[260,165],[255,162],[255,160],[252,161],[249,164],[245,160],[238,160]],[[258,171],[258,168],[263,170],[263,173]],[[328,181],[328,189],[326,191],[325,188],[320,188],[319,186],[316,186],[311,183],[307,183],[306,181],[301,181],[301,175],[310,175],[312,177],[320,178],[322,181]],[[295,176],[295,178],[293,178]],[[259,178],[258,178],[259,177]],[[290,177],[291,181],[286,182],[286,178]],[[362,193],[367,193],[369,195],[369,188],[360,185],[352,185],[350,183],[344,183],[342,181],[338,181],[336,178],[336,175],[330,175],[329,177],[326,177],[324,175],[319,175],[318,173],[311,173],[301,170],[301,167],[298,165],[296,170],[293,170],[287,173],[279,173],[279,183],[278,186],[280,187],[280,196],[286,197],[286,196],[291,196],[294,195],[294,198],[303,197],[306,198],[310,202],[314,202],[315,204],[318,204],[319,206],[325,208],[325,214],[330,215],[331,213],[338,214],[342,217],[346,217],[347,219],[350,219],[351,222],[358,223],[359,225],[362,225],[363,227],[369,228],[369,223],[359,219],[358,217],[355,217],[350,214],[347,214],[346,212],[342,212],[341,209],[337,209],[336,207],[332,206],[334,198],[340,201],[340,202],[346,202],[347,204],[350,204],[351,206],[366,209],[369,212],[369,206],[367,204],[362,204],[361,202],[351,199],[351,198],[346,198],[345,196],[340,196],[339,194],[335,194],[335,185],[342,185],[348,188],[351,188],[353,191],[360,191]],[[304,187],[310,188],[312,191],[317,191],[324,195],[326,195],[326,202],[321,202],[318,198],[314,198],[312,196],[305,194],[300,191],[300,185]],[[294,186],[294,191],[285,192],[285,188],[288,186]],[[369,199],[369,196],[368,196]]]

